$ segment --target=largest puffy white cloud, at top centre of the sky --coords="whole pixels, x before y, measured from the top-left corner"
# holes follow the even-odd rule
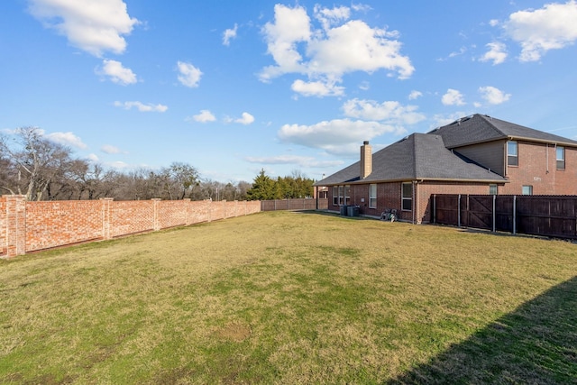
[[[386,69],[398,78],[409,78],[414,71],[408,57],[400,54],[398,32],[371,28],[360,20],[346,21],[350,16],[346,7],[316,6],[316,19],[322,24],[317,29],[302,6],[275,5],[274,9],[274,23],[266,23],[262,32],[275,65],[261,70],[261,81],[289,73],[302,74],[309,81],[293,83],[293,89],[302,89],[306,96],[325,96],[310,88],[322,88],[319,85],[324,84],[326,89],[333,89],[334,84],[342,82],[344,74],[354,71],[372,73]],[[342,95],[341,92],[326,95]]]

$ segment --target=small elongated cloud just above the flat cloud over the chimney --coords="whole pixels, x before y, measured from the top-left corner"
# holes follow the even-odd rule
[[[416,105],[400,105],[395,101],[379,104],[374,100],[355,98],[343,104],[343,111],[350,117],[380,121],[401,128],[404,124],[417,124],[425,120],[425,115],[417,113]]]

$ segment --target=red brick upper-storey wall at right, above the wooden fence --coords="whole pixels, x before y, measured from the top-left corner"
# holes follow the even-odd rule
[[[577,195],[577,149],[565,147],[565,170],[557,170],[554,145],[517,142],[518,166],[508,166],[509,183],[499,195],[520,195],[533,186],[534,195]]]

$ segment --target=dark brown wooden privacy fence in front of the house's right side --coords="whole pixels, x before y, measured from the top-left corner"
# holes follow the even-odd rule
[[[577,239],[577,197],[439,195],[431,197],[433,223]]]

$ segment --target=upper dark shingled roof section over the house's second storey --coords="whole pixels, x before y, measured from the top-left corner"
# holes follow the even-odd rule
[[[448,149],[481,142],[499,140],[526,140],[564,146],[577,146],[577,141],[553,133],[544,133],[519,124],[509,123],[487,115],[475,114],[436,128],[430,133],[443,136]]]

